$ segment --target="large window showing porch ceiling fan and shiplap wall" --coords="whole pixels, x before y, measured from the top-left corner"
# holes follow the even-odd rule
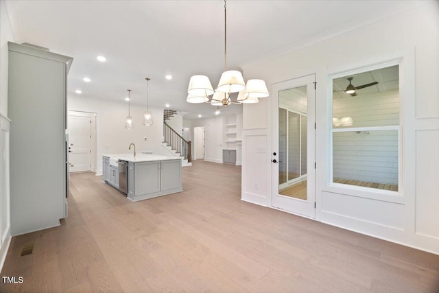
[[[332,182],[399,191],[399,65],[332,81]]]

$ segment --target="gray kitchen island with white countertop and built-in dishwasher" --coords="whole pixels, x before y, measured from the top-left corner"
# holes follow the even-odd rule
[[[119,166],[126,166],[126,169]],[[102,171],[104,183],[126,193],[134,202],[183,190],[181,159],[176,157],[156,154],[104,154]]]

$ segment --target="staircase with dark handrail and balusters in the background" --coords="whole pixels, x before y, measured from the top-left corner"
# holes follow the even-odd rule
[[[169,153],[182,159],[182,167],[191,166],[191,141],[186,141],[166,121],[177,114],[176,110],[165,110],[163,113],[163,142],[162,145]]]

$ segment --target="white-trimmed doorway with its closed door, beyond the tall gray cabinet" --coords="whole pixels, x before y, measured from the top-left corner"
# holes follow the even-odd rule
[[[96,171],[96,113],[69,111],[69,172]]]

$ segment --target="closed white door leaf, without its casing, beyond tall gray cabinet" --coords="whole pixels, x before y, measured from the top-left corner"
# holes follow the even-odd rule
[[[91,117],[69,115],[70,172],[91,170]]]

